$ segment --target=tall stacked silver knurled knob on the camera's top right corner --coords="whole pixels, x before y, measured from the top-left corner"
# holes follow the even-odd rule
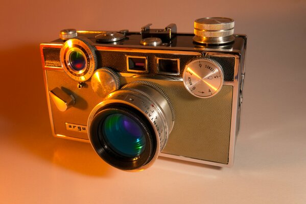
[[[206,17],[194,22],[194,38],[198,43],[223,44],[234,40],[234,20],[223,17]]]

